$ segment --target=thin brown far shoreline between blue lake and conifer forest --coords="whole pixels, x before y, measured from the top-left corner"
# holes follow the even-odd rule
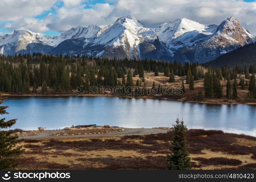
[[[96,97],[96,96],[105,96],[105,97],[119,97],[119,98],[135,98],[135,99],[155,99],[155,100],[171,100],[171,101],[179,101],[179,102],[189,102],[189,103],[199,103],[199,104],[246,104],[246,105],[256,105],[256,103],[252,103],[252,102],[209,102],[209,101],[196,101],[196,100],[181,100],[181,99],[169,99],[169,98],[157,98],[157,97],[153,97],[153,96],[137,96],[137,97],[131,97],[128,95],[102,95],[102,94],[83,94],[83,95],[75,95],[75,94],[6,94],[6,93],[2,93],[2,96],[6,96],[6,97],[19,97],[19,96],[27,96],[27,97],[31,97],[31,96],[86,96],[86,97]]]

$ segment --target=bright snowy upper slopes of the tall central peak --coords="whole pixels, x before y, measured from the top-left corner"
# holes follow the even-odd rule
[[[118,18],[114,24],[99,32],[92,46],[101,45],[112,48],[121,47],[129,58],[139,57],[139,44],[143,41],[153,41],[157,35],[153,29],[146,28],[139,20],[131,16]],[[104,51],[97,55],[102,55]]]

